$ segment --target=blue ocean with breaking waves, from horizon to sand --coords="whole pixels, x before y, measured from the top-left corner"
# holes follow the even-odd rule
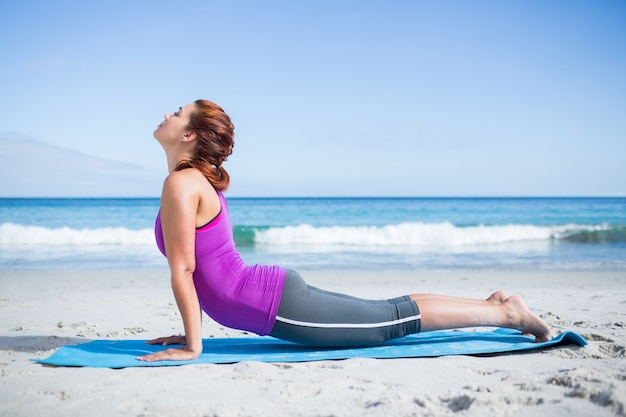
[[[227,195],[228,198],[228,195]],[[228,198],[249,264],[625,270],[626,198]],[[154,198],[0,198],[0,269],[167,268]]]

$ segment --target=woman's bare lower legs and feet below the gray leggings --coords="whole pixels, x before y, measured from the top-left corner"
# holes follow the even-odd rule
[[[492,295],[487,300],[425,294],[411,295],[411,299],[417,302],[420,309],[421,331],[479,326],[506,327],[531,333],[536,342],[551,339],[550,326],[530,311],[521,297],[511,296],[501,302],[494,302],[500,300],[503,294]]]

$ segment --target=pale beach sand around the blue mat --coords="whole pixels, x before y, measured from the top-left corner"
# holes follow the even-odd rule
[[[487,357],[58,368],[29,361],[93,339],[150,339],[182,324],[166,270],[0,271],[2,416],[626,415],[626,272],[301,271],[371,298],[520,294],[565,346]],[[203,336],[250,336],[204,318]]]

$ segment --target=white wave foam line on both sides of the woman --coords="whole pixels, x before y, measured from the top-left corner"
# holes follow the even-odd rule
[[[255,244],[262,245],[345,245],[360,247],[468,247],[509,242],[549,241],[583,230],[603,226],[499,225],[459,227],[451,223],[401,223],[388,226],[310,225],[271,227],[255,230]],[[123,227],[72,229],[0,225],[0,245],[81,246],[81,245],[154,245],[152,229]]]

